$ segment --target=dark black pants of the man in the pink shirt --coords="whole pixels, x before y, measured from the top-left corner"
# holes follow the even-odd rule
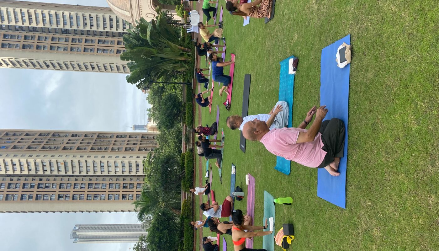
[[[322,149],[327,153],[323,162],[317,168],[324,168],[334,161],[335,157],[343,157],[345,148],[345,123],[337,118],[324,120],[320,125],[319,132],[322,134]]]

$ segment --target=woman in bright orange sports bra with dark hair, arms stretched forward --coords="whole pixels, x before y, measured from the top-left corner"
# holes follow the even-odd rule
[[[266,251],[265,249],[253,249],[245,247],[245,238],[251,238],[254,236],[264,236],[273,233],[273,231],[265,232],[245,232],[245,230],[255,231],[263,230],[268,227],[267,221],[265,221],[265,226],[247,226],[243,223],[245,222],[244,215],[242,211],[237,209],[232,211],[232,220],[234,226],[232,226],[232,240],[235,251]]]

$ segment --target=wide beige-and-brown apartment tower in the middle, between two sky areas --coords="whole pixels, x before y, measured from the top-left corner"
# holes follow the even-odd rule
[[[155,137],[0,130],[0,212],[132,211]]]

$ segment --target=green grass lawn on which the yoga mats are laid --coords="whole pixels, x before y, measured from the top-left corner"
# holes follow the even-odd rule
[[[276,231],[282,223],[295,226],[290,250],[439,250],[437,1],[290,0],[277,1],[275,10],[268,24],[252,19],[245,27],[241,17],[223,15],[226,60],[236,54],[231,110],[222,105],[225,97],[219,97],[218,88],[212,114],[202,109],[203,124],[211,124],[219,104],[219,131],[224,128],[226,134],[222,185],[213,170],[217,200],[230,192],[234,163],[236,184],[242,182],[245,191],[245,175],[255,177],[256,224],[262,223],[264,190],[275,198],[293,198],[292,206],[276,206]],[[317,197],[317,170],[292,163],[291,174],[281,174],[273,169],[276,157],[259,142],[247,141],[242,153],[239,131],[228,129],[225,119],[241,114],[246,73],[252,75],[248,113],[268,113],[278,100],[279,62],[295,55],[300,59],[292,108],[297,127],[320,103],[322,48],[348,33],[353,60],[342,209]],[[198,205],[197,198],[196,216]],[[235,208],[245,209],[246,200]],[[213,236],[208,229],[203,232]],[[233,250],[231,237],[225,238]],[[261,237],[254,247],[262,248]]]

